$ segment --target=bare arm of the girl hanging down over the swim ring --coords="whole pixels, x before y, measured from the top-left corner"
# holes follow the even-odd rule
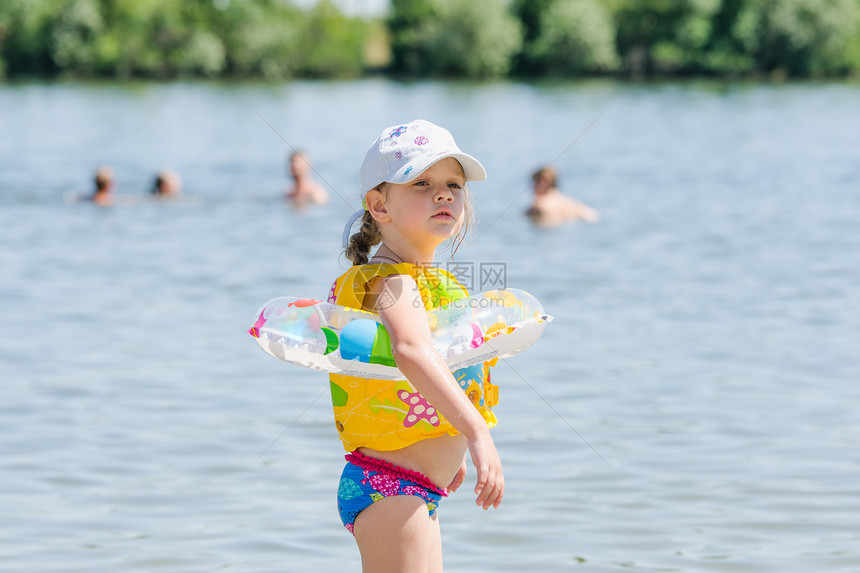
[[[484,509],[491,505],[499,507],[505,492],[502,462],[487,423],[433,347],[418,285],[409,275],[391,275],[383,279],[381,291],[383,295],[376,301],[376,311],[391,337],[397,367],[418,392],[466,436],[478,474],[477,504]]]

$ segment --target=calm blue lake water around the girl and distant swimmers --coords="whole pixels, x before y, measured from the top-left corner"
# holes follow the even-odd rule
[[[473,286],[556,316],[495,369],[507,493],[441,507],[446,570],[860,571],[860,85],[383,80],[0,85],[0,570],[360,570],[326,377],[246,330],[326,295],[414,118],[489,171]],[[329,206],[282,201],[291,148]],[[549,162],[599,223],[522,216]],[[123,204],[67,202],[103,163]]]

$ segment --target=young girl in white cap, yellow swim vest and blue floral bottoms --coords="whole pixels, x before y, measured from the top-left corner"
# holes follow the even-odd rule
[[[442,243],[462,240],[472,215],[466,182],[486,176],[447,130],[423,120],[384,130],[361,167],[361,229],[345,245],[355,266],[334,282],[329,302],[377,313],[407,378],[330,375],[335,425],[349,452],[338,509],[365,572],[442,571],[436,508],[463,483],[467,451],[477,505],[502,501],[489,366],[450,372],[427,319],[428,310],[468,296],[430,261]]]

